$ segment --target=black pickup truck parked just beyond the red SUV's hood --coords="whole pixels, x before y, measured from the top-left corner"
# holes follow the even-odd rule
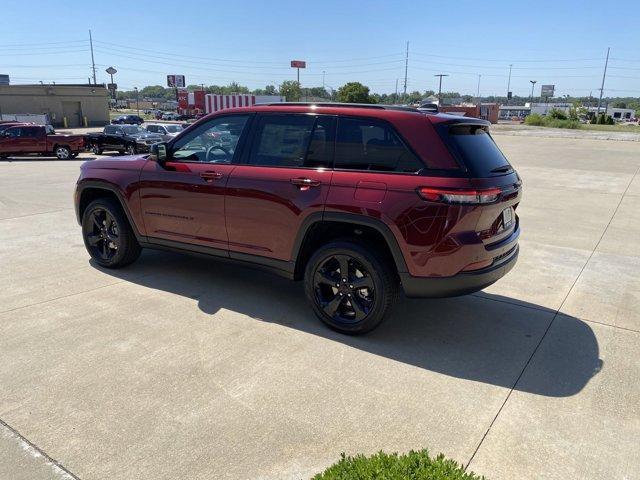
[[[89,133],[86,139],[88,148],[96,155],[105,150],[135,155],[148,152],[151,145],[161,141],[160,135],[137,125],[107,125],[102,133]]]

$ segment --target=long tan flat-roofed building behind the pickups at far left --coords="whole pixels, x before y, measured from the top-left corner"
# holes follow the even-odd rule
[[[55,127],[109,123],[109,91],[98,85],[0,85],[0,116],[47,115]]]

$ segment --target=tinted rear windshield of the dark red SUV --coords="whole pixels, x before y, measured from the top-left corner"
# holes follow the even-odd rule
[[[493,177],[513,171],[486,127],[452,125],[449,127],[449,138],[472,176]]]

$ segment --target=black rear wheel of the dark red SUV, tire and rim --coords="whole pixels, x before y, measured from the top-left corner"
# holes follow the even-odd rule
[[[346,276],[340,265],[346,265]],[[320,320],[355,335],[373,330],[384,320],[397,298],[398,279],[381,252],[345,239],[324,245],[312,255],[304,288]]]

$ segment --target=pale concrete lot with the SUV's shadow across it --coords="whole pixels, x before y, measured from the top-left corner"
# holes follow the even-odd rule
[[[640,143],[496,140],[515,269],[355,338],[249,268],[99,269],[81,159],[0,162],[0,478],[298,479],[423,447],[489,479],[640,478]]]

